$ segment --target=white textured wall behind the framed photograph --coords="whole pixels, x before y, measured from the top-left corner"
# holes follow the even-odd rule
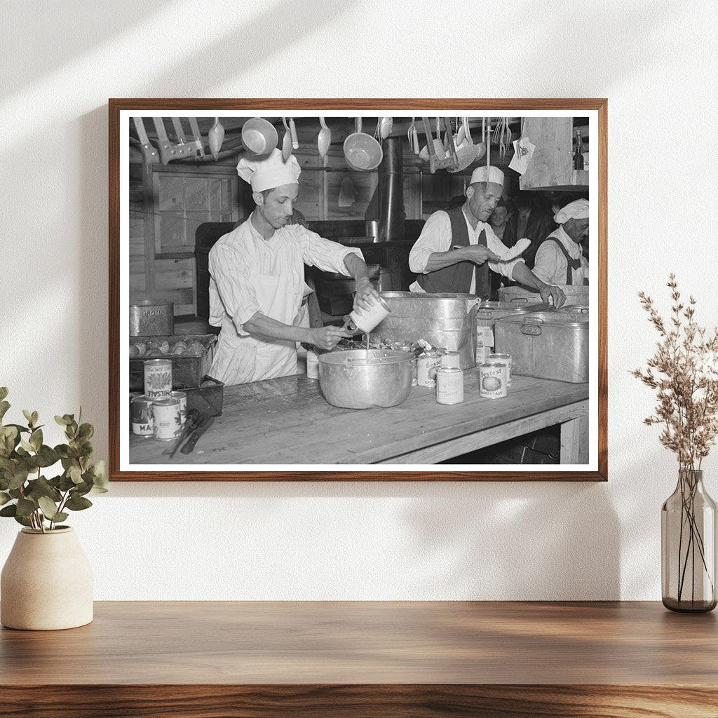
[[[98,599],[660,598],[676,465],[641,424],[653,401],[628,370],[656,339],[636,294],[666,306],[669,271],[699,321],[718,318],[718,10],[412,5],[0,3],[9,416],[52,424],[82,404],[107,454],[107,98],[607,97],[609,482],[117,482],[73,516]],[[0,563],[16,531],[0,521]]]

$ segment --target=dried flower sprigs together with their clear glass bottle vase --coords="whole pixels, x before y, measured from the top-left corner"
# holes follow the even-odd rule
[[[661,512],[663,604],[697,612],[716,605],[715,505],[703,490],[701,462],[718,435],[718,329],[707,335],[696,323],[696,300],[681,302],[674,274],[667,286],[673,302],[668,321],[651,297],[638,295],[661,339],[648,368],[632,374],[656,390],[658,405],[644,421],[663,426],[661,444],[679,462],[676,491]]]

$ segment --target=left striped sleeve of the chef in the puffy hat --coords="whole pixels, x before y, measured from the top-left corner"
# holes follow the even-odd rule
[[[247,336],[243,324],[261,312],[261,308],[241,258],[232,249],[215,245],[210,251],[209,266],[210,324],[220,326],[224,313],[232,320],[237,333]]]

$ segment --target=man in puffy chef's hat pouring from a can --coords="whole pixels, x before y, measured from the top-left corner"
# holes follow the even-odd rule
[[[332,349],[350,336],[341,327],[299,325],[310,292],[304,264],[353,276],[355,309],[368,309],[378,297],[358,249],[289,224],[301,172],[294,156],[284,162],[274,149],[243,157],[237,172],[251,185],[256,208],[209,256],[210,324],[222,327],[210,374],[228,385],[296,374],[297,342]]]

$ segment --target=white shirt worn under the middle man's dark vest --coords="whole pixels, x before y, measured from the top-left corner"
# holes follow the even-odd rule
[[[463,210],[462,210],[463,211]],[[479,235],[481,230],[486,232],[486,246],[499,256],[507,253],[509,248],[495,235],[491,225],[486,222],[477,222],[476,228],[472,228],[469,220],[466,218],[464,212],[464,219],[466,220],[466,227],[469,230],[469,244],[477,244],[479,241]],[[448,252],[452,248],[452,233],[451,233],[451,220],[449,215],[444,210],[434,212],[434,214],[426,220],[426,224],[421,229],[419,239],[416,240],[414,246],[409,252],[409,269],[416,274],[428,274],[426,272],[426,263],[429,261],[429,256],[434,252]],[[510,262],[489,262],[489,267],[498,274],[513,279],[512,272],[513,268],[519,263],[523,262],[523,259],[518,258]],[[471,276],[470,293],[474,294],[476,289],[476,272],[474,271]],[[419,286],[419,281],[415,281],[409,287],[409,292],[417,292],[421,294],[424,289]]]

